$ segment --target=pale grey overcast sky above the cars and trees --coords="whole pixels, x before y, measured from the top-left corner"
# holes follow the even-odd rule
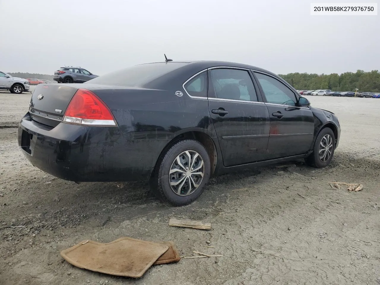
[[[102,75],[164,53],[277,74],[380,70],[380,16],[310,16],[310,2],[0,0],[0,70]]]

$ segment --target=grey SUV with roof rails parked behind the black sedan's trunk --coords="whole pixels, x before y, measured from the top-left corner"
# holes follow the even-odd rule
[[[84,83],[98,76],[81,67],[61,67],[54,72],[54,81],[59,83]]]

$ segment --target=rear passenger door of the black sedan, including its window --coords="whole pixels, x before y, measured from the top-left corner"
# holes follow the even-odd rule
[[[257,95],[252,74],[243,69],[215,68],[208,75],[209,112],[224,166],[264,160],[269,113]]]

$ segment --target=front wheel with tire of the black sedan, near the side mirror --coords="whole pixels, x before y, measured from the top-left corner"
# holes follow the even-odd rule
[[[305,159],[307,165],[323,168],[330,164],[335,150],[335,135],[331,128],[320,131],[315,140],[313,152]]]

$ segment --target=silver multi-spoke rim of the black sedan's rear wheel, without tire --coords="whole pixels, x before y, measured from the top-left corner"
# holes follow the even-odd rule
[[[204,163],[198,152],[186,150],[174,159],[169,171],[169,184],[174,193],[187,196],[196,191],[203,180]]]

